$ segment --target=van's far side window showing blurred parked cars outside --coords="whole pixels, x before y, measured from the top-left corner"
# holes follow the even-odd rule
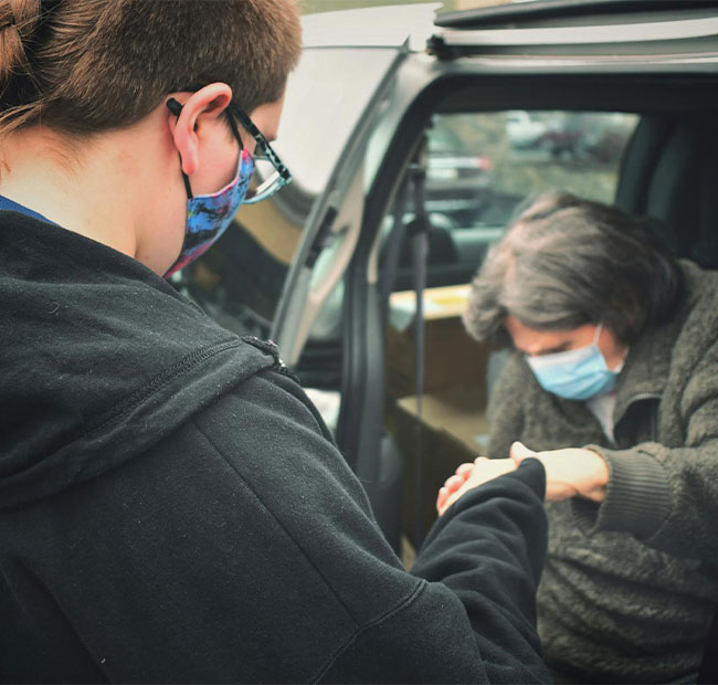
[[[503,225],[525,198],[549,189],[612,202],[636,123],[636,115],[603,112],[436,115],[430,209],[471,228]]]

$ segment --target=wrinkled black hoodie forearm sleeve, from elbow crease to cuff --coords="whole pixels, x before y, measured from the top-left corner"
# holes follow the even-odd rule
[[[412,569],[462,601],[492,683],[550,679],[535,629],[543,491],[536,460],[476,488],[436,521]]]

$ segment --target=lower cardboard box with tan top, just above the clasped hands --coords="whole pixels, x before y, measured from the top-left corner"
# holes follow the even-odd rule
[[[424,394],[421,421],[416,397],[395,402],[391,424],[404,467],[401,524],[412,544],[418,541],[418,517],[421,516],[422,535],[436,519],[436,494],[444,481],[460,464],[472,462],[485,452],[488,443],[485,405],[484,384],[454,386]]]

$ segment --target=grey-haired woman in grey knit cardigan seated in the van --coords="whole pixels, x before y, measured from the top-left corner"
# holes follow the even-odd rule
[[[717,293],[648,222],[568,194],[521,213],[474,281],[468,331],[514,350],[488,456],[547,471],[538,620],[557,681],[696,677],[718,598]]]

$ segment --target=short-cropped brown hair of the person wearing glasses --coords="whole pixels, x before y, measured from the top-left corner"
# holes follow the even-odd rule
[[[295,0],[0,0],[0,136],[131,125],[213,82],[251,113],[300,49]]]

